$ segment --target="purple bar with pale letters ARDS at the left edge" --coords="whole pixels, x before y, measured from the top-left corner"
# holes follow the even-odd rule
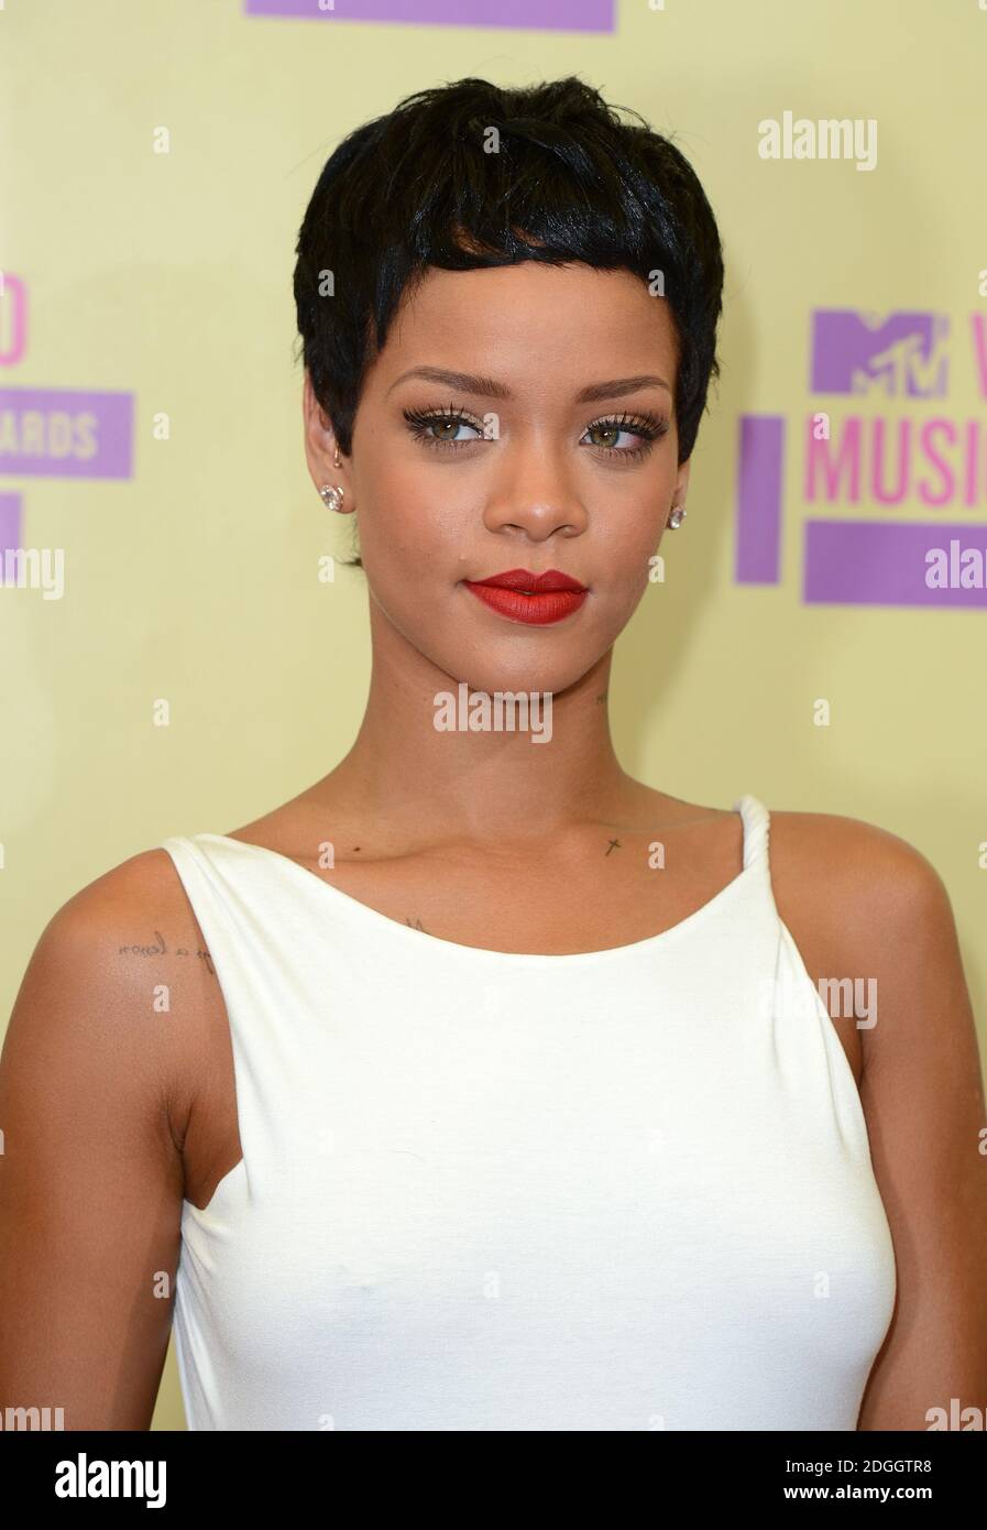
[[[0,473],[133,476],[133,393],[0,389]]]

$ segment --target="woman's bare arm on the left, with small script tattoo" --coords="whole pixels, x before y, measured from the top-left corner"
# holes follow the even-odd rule
[[[61,1408],[64,1429],[147,1429],[168,1346],[185,1106],[156,985],[194,978],[121,953],[171,897],[162,855],[54,916],[0,1059],[0,1409]]]

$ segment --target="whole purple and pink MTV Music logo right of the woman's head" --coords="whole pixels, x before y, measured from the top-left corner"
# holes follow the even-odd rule
[[[972,315],[973,366],[987,398],[987,320]],[[806,604],[946,606],[987,609],[984,522],[892,522],[891,505],[955,514],[987,506],[987,425],[909,409],[946,393],[949,318],[820,309],[811,320],[814,393],[881,393],[895,407],[846,413],[813,405],[805,419],[802,494],[837,509],[869,505],[872,520],[805,522]],[[787,416],[741,418],[736,502],[736,581],[777,583],[783,526]],[[794,439],[794,438],[793,438]],[[880,516],[880,511],[884,516]]]

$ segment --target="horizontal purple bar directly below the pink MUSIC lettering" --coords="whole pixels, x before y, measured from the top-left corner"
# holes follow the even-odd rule
[[[987,523],[809,520],[802,598],[836,606],[987,609]]]

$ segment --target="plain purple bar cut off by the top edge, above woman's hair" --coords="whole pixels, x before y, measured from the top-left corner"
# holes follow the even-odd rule
[[[410,21],[425,26],[612,32],[615,0],[245,0],[246,15],[306,21]]]

